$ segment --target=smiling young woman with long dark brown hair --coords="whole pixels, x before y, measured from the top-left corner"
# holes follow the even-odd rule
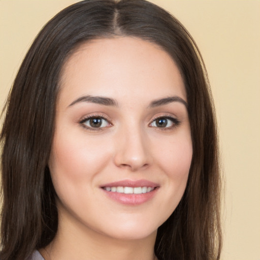
[[[163,9],[57,14],[21,64],[1,140],[1,259],[219,259],[206,69]]]

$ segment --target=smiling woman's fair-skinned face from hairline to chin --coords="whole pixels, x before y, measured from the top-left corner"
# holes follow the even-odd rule
[[[131,37],[82,45],[62,70],[49,159],[59,225],[156,235],[186,187],[186,102],[176,64],[157,45]]]

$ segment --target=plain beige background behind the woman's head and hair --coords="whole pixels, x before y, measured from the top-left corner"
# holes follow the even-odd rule
[[[0,107],[30,43],[78,1],[0,1]],[[153,0],[196,40],[215,99],[225,175],[223,260],[260,260],[260,1]]]

